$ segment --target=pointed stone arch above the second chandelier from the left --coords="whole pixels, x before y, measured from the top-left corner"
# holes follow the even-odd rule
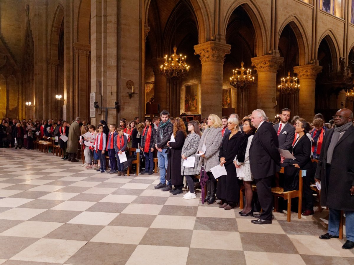
[[[259,7],[254,3],[253,0],[235,0],[229,7],[229,9],[225,12],[225,18],[223,22],[223,35],[226,36],[227,24],[230,19],[232,12],[238,7],[242,5],[248,16],[250,17],[253,27],[256,31],[255,36],[255,57],[261,56],[268,53],[268,35],[267,30],[265,28],[265,17]]]

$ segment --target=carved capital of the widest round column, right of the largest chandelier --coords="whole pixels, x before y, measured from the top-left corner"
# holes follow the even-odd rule
[[[200,62],[215,61],[224,63],[225,54],[229,54],[231,45],[216,41],[207,41],[194,46],[195,55],[200,55]]]

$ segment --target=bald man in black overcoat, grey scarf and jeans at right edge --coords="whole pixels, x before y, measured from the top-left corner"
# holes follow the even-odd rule
[[[341,211],[346,214],[347,241],[343,249],[354,248],[354,127],[353,112],[347,108],[333,116],[335,128],[327,130],[315,173],[321,183],[321,205],[329,208],[328,231],[321,239],[339,236]]]

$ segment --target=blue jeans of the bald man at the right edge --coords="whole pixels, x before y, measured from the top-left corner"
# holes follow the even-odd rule
[[[354,212],[344,211],[346,214],[346,236],[347,240],[354,242]],[[328,232],[332,236],[339,236],[339,217],[340,210],[330,209],[330,216],[328,218]]]

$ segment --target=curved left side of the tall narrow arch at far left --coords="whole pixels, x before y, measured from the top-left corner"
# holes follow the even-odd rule
[[[51,59],[58,59],[58,46],[59,46],[59,36],[62,28],[62,23],[64,20],[64,8],[58,5],[55,11],[52,29],[50,33],[50,56]]]

